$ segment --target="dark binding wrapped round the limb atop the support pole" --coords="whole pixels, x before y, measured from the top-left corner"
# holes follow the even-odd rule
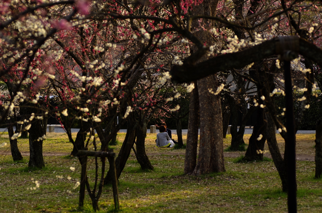
[[[298,57],[299,37],[279,36],[276,38],[275,48],[280,60],[291,61]]]

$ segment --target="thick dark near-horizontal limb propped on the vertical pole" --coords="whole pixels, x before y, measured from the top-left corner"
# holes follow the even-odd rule
[[[219,55],[197,64],[185,62],[182,66],[175,65],[170,71],[172,81],[176,83],[196,81],[224,70],[243,68],[252,62],[257,62],[271,55],[279,54],[276,52],[276,44],[278,42],[279,38],[274,38],[243,51]],[[322,66],[321,49],[305,39],[299,38],[298,53],[316,62],[319,66]],[[213,69],[214,67],[216,69]],[[196,70],[198,70],[198,75],[196,75]]]

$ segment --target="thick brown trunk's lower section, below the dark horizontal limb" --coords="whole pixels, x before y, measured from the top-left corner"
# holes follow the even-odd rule
[[[200,146],[194,175],[225,171],[223,158],[223,120],[220,96],[208,91],[219,86],[216,75],[198,80]]]

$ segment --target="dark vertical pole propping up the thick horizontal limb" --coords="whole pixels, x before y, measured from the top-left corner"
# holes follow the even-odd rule
[[[294,125],[294,109],[293,109],[293,93],[291,80],[291,63],[284,60],[284,78],[285,78],[285,107],[286,107],[286,129],[287,139],[285,150],[287,152],[287,179],[288,179],[288,200],[287,205],[289,213],[297,212],[296,201],[296,160],[295,160],[295,125]]]

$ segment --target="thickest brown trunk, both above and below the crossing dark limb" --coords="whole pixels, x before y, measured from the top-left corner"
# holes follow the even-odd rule
[[[217,0],[204,0],[193,8],[193,15],[215,15]],[[212,22],[208,20],[194,20],[192,30],[194,35],[207,45],[213,44],[212,35],[206,30],[200,28],[212,28]],[[199,29],[199,30],[197,30]],[[204,61],[207,56],[204,55],[199,61]],[[200,146],[199,156],[194,168],[194,175],[202,175],[212,172],[225,171],[223,158],[223,119],[221,111],[221,101],[219,95],[214,95],[208,91],[213,88],[214,91],[219,86],[217,75],[210,75],[197,81],[199,93],[200,109]]]

